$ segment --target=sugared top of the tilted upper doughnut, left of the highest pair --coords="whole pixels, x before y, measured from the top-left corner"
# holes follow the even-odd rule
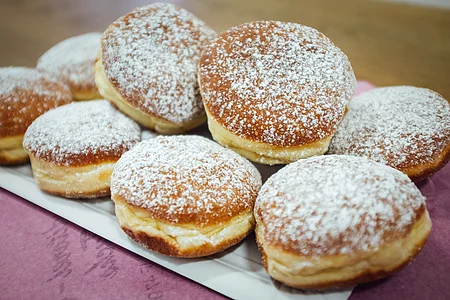
[[[134,9],[102,37],[102,64],[119,94],[143,112],[182,124],[204,114],[200,52],[216,33],[169,3]]]

